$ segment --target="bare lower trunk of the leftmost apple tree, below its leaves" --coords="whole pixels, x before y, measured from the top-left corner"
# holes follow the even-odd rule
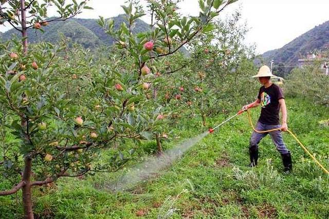
[[[29,156],[25,157],[25,168],[23,172],[23,181],[25,181],[25,186],[22,188],[23,192],[23,206],[24,206],[24,218],[33,219],[32,210],[32,188],[31,188],[31,168],[32,159]]]

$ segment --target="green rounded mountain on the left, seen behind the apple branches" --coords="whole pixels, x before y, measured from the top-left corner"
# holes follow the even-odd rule
[[[115,21],[115,28],[118,28],[122,22],[126,22],[124,15],[112,17]],[[133,32],[148,31],[150,26],[137,20]],[[111,45],[114,40],[106,34],[102,27],[97,24],[96,19],[70,19],[65,22],[52,22],[49,26],[43,27],[44,32],[36,31],[35,29],[28,30],[29,41],[35,42],[51,42],[56,43],[60,40],[61,34],[70,38],[72,41],[80,43],[86,48],[95,48],[99,45]],[[7,41],[12,39],[15,35],[19,36],[19,32],[10,29],[5,33],[0,33],[0,39]]]

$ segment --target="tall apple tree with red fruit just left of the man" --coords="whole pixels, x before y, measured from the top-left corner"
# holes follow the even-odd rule
[[[215,29],[200,35],[189,47],[191,71],[186,78],[194,87],[190,101],[194,109],[206,118],[218,113],[229,113],[232,105],[241,105],[254,97],[250,75],[254,71],[253,49],[244,45],[247,32],[245,25],[239,25],[240,13],[224,21],[217,21]]]

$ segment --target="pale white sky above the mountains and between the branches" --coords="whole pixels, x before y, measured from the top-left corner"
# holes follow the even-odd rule
[[[95,10],[86,10],[79,17],[97,19],[99,15],[116,16],[123,13],[120,5],[124,2],[125,0],[90,0],[89,5]],[[141,2],[144,3],[143,0]],[[197,0],[185,0],[179,6],[182,14],[198,14]],[[240,0],[227,8],[221,17],[239,8],[250,28],[246,43],[255,43],[259,53],[280,48],[307,30],[329,21],[327,0]],[[148,17],[143,20],[150,23]],[[8,28],[0,25],[0,31]]]

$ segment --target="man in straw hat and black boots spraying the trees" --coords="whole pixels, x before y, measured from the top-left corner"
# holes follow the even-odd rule
[[[253,108],[261,105],[261,116],[255,127],[258,131],[267,131],[280,128],[281,131],[286,132],[287,126],[287,109],[284,100],[282,89],[271,82],[273,77],[271,70],[268,66],[264,65],[260,68],[257,75],[253,78],[259,78],[260,83],[263,85],[258,94],[258,98],[248,105],[243,106],[243,109]],[[282,124],[280,125],[280,109],[282,113]],[[272,131],[266,133],[253,132],[250,138],[249,155],[250,167],[257,166],[258,161],[258,144],[267,134],[270,135],[273,143],[276,145],[277,150],[282,156],[284,171],[291,171],[293,164],[291,162],[291,155],[286,145],[283,142],[281,131]]]

